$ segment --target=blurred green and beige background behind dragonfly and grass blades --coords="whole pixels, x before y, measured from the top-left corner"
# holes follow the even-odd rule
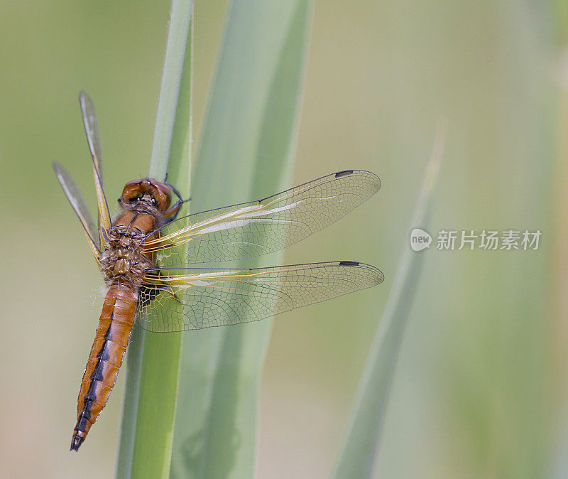
[[[94,205],[84,89],[109,198],[147,174],[169,6],[0,5],[2,477],[114,473],[124,375],[86,446],[67,451],[102,284],[50,163]],[[225,6],[195,5],[196,138]],[[440,117],[432,234],[540,229],[541,247],[422,253],[378,475],[567,477],[567,13],[562,1],[316,3],[293,183],[365,168],[383,188],[286,262],[356,259],[386,281],[275,321],[259,478],[331,470]]]

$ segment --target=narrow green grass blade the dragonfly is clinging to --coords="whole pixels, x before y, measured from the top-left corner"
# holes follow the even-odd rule
[[[190,195],[192,8],[174,0],[166,47],[150,176]],[[119,478],[169,475],[181,334],[146,334],[135,324],[126,363]]]

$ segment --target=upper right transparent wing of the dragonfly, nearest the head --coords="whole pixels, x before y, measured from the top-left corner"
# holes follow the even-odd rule
[[[332,173],[263,200],[182,217],[145,243],[158,264],[229,261],[274,252],[331,225],[371,198],[381,180],[373,173]],[[184,252],[174,249],[186,244]]]

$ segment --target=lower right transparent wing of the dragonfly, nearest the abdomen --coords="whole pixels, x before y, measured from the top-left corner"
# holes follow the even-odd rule
[[[369,264],[342,261],[258,269],[170,269],[146,275],[138,321],[154,332],[259,321],[383,282]]]

